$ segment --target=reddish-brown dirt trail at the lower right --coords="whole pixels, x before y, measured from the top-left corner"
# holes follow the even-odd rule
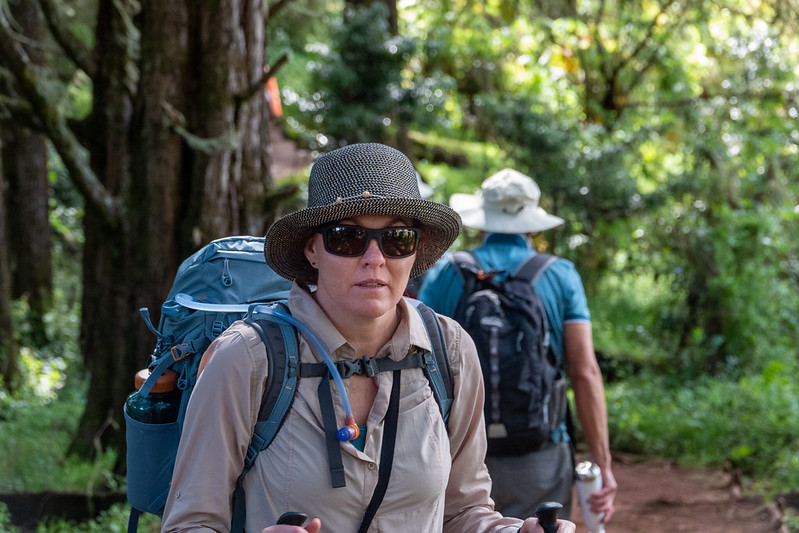
[[[724,472],[614,455],[619,484],[607,533],[769,533],[779,531],[758,497],[740,497]],[[577,492],[572,521],[585,531]]]

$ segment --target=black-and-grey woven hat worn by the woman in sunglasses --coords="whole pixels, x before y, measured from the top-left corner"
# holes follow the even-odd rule
[[[433,266],[462,227],[450,207],[422,198],[413,164],[402,152],[377,143],[352,144],[313,164],[308,205],[279,218],[266,232],[266,262],[284,278],[314,284],[317,271],[304,251],[314,228],[360,215],[415,221],[422,235],[411,277]]]

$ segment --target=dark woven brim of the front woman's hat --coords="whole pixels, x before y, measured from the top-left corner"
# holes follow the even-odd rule
[[[317,271],[305,257],[305,244],[314,228],[360,215],[395,216],[417,221],[422,236],[411,277],[433,266],[452,245],[462,228],[461,219],[453,209],[423,199],[368,198],[309,207],[279,218],[269,228],[264,238],[267,264],[286,279],[316,283]]]

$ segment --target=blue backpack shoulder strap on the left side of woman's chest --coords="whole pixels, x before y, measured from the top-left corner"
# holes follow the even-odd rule
[[[278,304],[281,310],[288,313],[285,304]],[[299,334],[297,329],[291,324],[270,319],[252,320],[246,318],[247,322],[261,337],[266,346],[268,354],[269,374],[264,388],[261,407],[258,411],[258,421],[253,430],[250,445],[247,447],[247,455],[244,458],[244,468],[236,480],[236,487],[233,491],[233,520],[231,523],[231,533],[241,533],[244,531],[246,520],[246,507],[244,497],[244,487],[242,482],[244,476],[250,471],[258,454],[265,450],[277,435],[283,420],[294,400],[294,392],[297,390],[297,378],[299,377]]]

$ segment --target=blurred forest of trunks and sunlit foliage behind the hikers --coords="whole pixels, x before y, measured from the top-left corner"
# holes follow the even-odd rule
[[[796,0],[0,0],[0,492],[124,490],[138,309],[157,323],[184,257],[304,204],[275,132],[309,161],[394,145],[441,202],[533,176],[612,449],[796,490],[797,21]]]

